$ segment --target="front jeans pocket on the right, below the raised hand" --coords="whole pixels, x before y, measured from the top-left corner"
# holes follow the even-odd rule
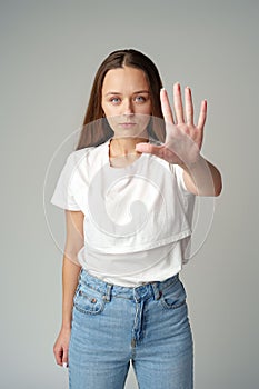
[[[186,303],[186,290],[180,280],[161,290],[160,303],[166,309],[176,309]]]

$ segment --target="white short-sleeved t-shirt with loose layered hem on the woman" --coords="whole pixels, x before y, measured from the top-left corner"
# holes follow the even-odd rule
[[[89,273],[127,287],[162,281],[188,260],[196,197],[178,164],[142,153],[113,168],[109,144],[68,156],[51,203],[83,212],[78,262]]]

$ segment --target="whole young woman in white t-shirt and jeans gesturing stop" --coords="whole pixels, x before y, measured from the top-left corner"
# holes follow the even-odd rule
[[[193,387],[193,345],[179,278],[196,196],[221,177],[201,156],[207,102],[190,88],[173,110],[153,62],[112,52],[93,82],[77,150],[51,202],[66,210],[62,325],[53,351],[70,389]]]

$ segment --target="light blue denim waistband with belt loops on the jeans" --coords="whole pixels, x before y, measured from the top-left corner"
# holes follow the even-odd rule
[[[107,301],[110,301],[112,296],[123,297],[136,301],[150,298],[158,300],[162,295],[162,290],[172,286],[178,280],[179,273],[166,279],[165,281],[148,282],[138,287],[129,288],[102,281],[101,279],[89,275],[84,269],[81,269],[79,275],[79,283],[83,283],[91,289],[99,291],[103,295]]]

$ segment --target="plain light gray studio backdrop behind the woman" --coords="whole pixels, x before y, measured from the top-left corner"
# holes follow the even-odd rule
[[[190,86],[196,108],[208,99],[203,154],[223,177],[210,233],[181,273],[196,388],[258,388],[258,38],[251,0],[0,2],[1,388],[67,388],[52,356],[62,253],[47,209],[58,241],[64,218],[48,207],[46,173],[82,122],[100,61],[129,47],[153,59],[167,89]]]

